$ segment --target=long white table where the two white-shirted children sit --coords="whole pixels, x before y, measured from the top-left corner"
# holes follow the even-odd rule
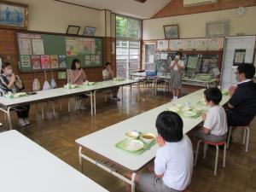
[[[140,131],[140,132],[152,132],[155,135],[157,134],[155,128],[155,120],[159,113],[166,110],[166,108],[172,106],[174,103],[184,104],[190,102],[192,106],[197,106],[207,110],[207,107],[199,106],[198,102],[203,98],[204,90],[197,90],[188,96],[183,96],[175,102],[169,102],[158,108],[149,110],[148,112],[141,113],[131,119],[126,119],[118,124],[108,126],[101,131],[96,131],[81,137],[76,140],[76,143],[79,144],[79,163],[82,166],[83,160],[88,160],[96,166],[101,167],[103,170],[110,172],[115,177],[119,177],[125,183],[131,184],[131,190],[135,191],[134,178],[136,173],[146,166],[150,160],[154,159],[156,150],[158,148],[157,144],[145,151],[140,155],[133,155],[125,153],[124,151],[119,150],[114,145],[119,143],[122,139],[125,138],[125,132],[127,131]],[[224,96],[221,105],[224,105],[230,96]],[[184,118],[183,119],[183,134],[186,134],[188,131],[192,130],[196,125],[201,123],[201,117],[196,119]],[[128,172],[132,172],[131,180],[119,174],[119,172],[113,171],[108,165],[99,163],[99,161],[91,159],[89,156],[82,153],[82,149],[87,149],[92,153],[100,154],[102,158],[112,162],[114,165],[121,166],[125,168]],[[82,169],[83,170],[83,169]]]

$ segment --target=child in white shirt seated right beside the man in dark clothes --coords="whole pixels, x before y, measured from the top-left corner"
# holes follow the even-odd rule
[[[195,131],[195,137],[212,143],[224,142],[228,125],[224,108],[218,105],[222,100],[222,93],[217,87],[212,87],[205,90],[204,95],[210,109],[208,113],[202,113],[204,124],[202,128]]]

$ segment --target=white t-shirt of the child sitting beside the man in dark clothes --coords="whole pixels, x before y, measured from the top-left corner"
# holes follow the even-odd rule
[[[219,105],[210,108],[204,127],[211,130],[212,135],[224,135],[228,131],[227,115],[224,108]]]

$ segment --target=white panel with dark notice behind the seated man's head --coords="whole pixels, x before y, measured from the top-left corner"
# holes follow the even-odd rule
[[[227,89],[231,84],[236,84],[236,67],[233,66],[233,59],[236,49],[246,49],[244,62],[253,63],[255,49],[255,36],[228,37],[225,40],[224,59],[222,64],[221,87]],[[254,60],[256,66],[256,61]]]

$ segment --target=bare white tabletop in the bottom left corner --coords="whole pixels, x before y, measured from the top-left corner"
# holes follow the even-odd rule
[[[18,131],[0,133],[0,154],[0,191],[108,191]]]

